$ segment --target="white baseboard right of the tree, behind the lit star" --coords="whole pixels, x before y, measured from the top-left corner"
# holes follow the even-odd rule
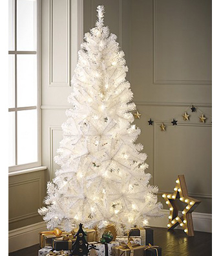
[[[151,227],[167,227],[169,210],[162,210],[163,216],[149,221]],[[212,233],[212,215],[210,213],[192,213],[193,227],[195,231]],[[182,229],[182,227],[176,227]]]

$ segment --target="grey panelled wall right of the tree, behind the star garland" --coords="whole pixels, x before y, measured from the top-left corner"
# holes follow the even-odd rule
[[[94,27],[98,5],[105,6],[105,24],[125,52],[127,79],[142,113],[135,120],[142,130],[138,142],[149,156],[159,200],[184,174],[189,195],[202,200],[196,211],[211,213],[211,0],[85,0],[84,32]]]

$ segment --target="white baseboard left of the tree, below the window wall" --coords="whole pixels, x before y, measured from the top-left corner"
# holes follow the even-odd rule
[[[47,230],[45,222],[38,222],[8,231],[8,253],[39,243],[39,233]]]

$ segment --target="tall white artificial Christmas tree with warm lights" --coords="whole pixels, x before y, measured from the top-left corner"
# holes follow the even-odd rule
[[[119,233],[130,227],[148,226],[160,216],[158,188],[149,185],[146,154],[135,144],[140,129],[132,122],[136,109],[124,53],[103,25],[103,6],[98,6],[96,27],[85,34],[72,78],[53,181],[48,182],[47,207],[39,214],[48,229],[70,231],[84,227],[104,229],[113,224]]]

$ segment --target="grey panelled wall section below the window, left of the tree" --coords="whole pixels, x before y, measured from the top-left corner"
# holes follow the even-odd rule
[[[45,196],[45,170],[8,179],[8,230],[42,221],[37,209]]]

